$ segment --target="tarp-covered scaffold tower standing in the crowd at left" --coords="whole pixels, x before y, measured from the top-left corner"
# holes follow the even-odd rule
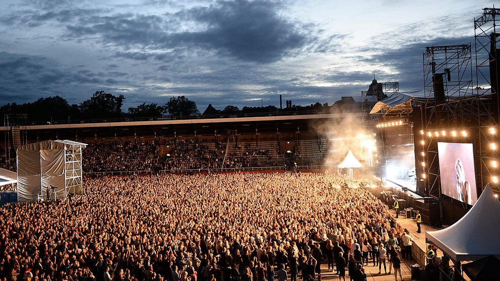
[[[73,193],[81,193],[81,152],[86,146],[71,140],[46,140],[19,147],[18,200],[34,201],[38,195],[45,196],[50,185],[55,186],[58,198],[64,198],[69,187]]]

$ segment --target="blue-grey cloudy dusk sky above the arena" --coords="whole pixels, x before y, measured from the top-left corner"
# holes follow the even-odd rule
[[[124,111],[184,95],[212,103],[333,103],[373,79],[422,90],[422,51],[474,44],[491,2],[2,0],[0,105],[95,91]],[[284,104],[284,102],[283,102]]]

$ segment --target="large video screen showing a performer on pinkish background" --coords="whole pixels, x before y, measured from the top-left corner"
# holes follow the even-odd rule
[[[437,143],[441,192],[473,205],[477,201],[472,144]]]

